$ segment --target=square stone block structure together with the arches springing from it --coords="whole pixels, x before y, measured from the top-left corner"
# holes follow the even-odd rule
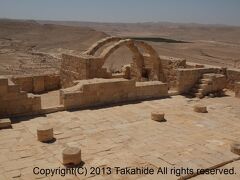
[[[117,42],[105,48],[99,56],[95,56],[95,52],[98,49],[112,41]],[[128,47],[132,53],[133,62],[130,66],[131,79],[137,81],[145,81],[146,79],[165,81],[161,59],[152,46],[142,41],[108,37],[100,40],[82,54],[62,55],[62,65],[60,71],[62,87],[66,88],[73,86],[75,80],[111,78],[112,74],[107,72],[107,70],[102,67],[106,59],[122,46]],[[148,54],[147,58],[150,63],[145,62],[144,55],[139,51],[138,48],[146,51]]]

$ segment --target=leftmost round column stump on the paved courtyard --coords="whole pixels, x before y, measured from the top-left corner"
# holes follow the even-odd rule
[[[41,142],[49,142],[53,140],[53,128],[47,124],[40,125],[37,128],[37,138]]]

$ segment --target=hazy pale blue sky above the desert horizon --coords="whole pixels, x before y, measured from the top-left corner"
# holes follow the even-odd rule
[[[240,25],[240,0],[0,0],[0,18]]]

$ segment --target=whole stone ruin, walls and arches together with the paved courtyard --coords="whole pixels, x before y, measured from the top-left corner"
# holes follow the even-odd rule
[[[120,47],[132,62],[110,72],[104,63]],[[35,179],[49,167],[224,167],[240,160],[240,143],[229,147],[239,140],[239,82],[238,69],[160,56],[119,37],[63,54],[57,74],[1,76],[2,172]]]

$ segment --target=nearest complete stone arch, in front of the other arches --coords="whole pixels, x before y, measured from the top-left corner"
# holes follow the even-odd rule
[[[144,58],[142,54],[139,52],[138,48],[134,45],[134,41],[130,39],[120,40],[113,45],[105,48],[103,52],[100,54],[100,58],[102,59],[103,66],[106,59],[118,48],[126,46],[132,52],[133,66],[135,67],[135,71],[131,72],[131,76],[136,78],[136,80],[141,80],[142,78],[142,69],[144,64]]]

